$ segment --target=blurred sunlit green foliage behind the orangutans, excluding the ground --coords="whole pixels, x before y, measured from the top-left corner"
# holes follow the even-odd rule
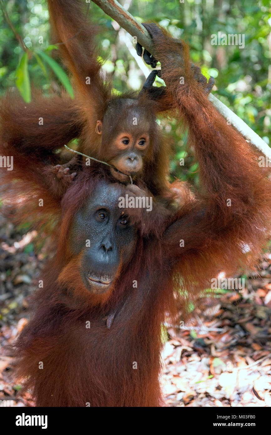
[[[121,3],[141,22],[156,21],[174,37],[188,41],[193,62],[200,64],[207,77],[215,77],[215,95],[271,145],[269,0],[122,0]],[[49,90],[61,92],[63,86],[72,94],[64,67],[58,66],[57,50],[51,45],[46,1],[0,0],[0,7],[0,95],[18,87],[29,101],[31,87],[46,94]],[[89,14],[101,28],[98,36],[101,57],[115,89],[139,90],[148,69],[137,57],[132,37],[92,2]],[[27,52],[18,43],[9,20]],[[244,35],[244,48],[212,45],[211,35],[218,32]],[[185,137],[175,132],[174,120],[163,121],[161,125],[175,145],[172,176],[197,182],[197,164],[187,154]],[[180,166],[180,158],[184,158],[184,166]]]

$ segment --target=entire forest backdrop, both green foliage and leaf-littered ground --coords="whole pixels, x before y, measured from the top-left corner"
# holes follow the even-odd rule
[[[156,21],[186,40],[193,63],[215,77],[213,93],[271,146],[270,0],[181,1],[120,0],[141,22]],[[149,69],[136,55],[132,37],[92,2],[89,14],[100,27],[100,56],[115,90],[141,89]],[[51,45],[48,18],[45,0],[0,0],[0,97],[19,89],[29,101],[34,87],[45,95],[61,93],[63,87],[72,94]],[[212,45],[218,32],[244,35],[244,48]],[[197,164],[186,150],[185,134],[176,131],[174,120],[161,119],[160,125],[173,144],[172,177],[197,184]],[[0,400],[34,406],[31,395],[21,394],[21,385],[14,384],[12,355],[1,355],[27,324],[28,296],[37,288],[50,240],[44,243],[30,223],[16,227],[0,213],[0,242]],[[242,293],[218,289],[200,295],[205,309],[190,304],[191,326],[180,329],[177,338],[163,325],[167,405],[271,406],[270,253],[261,269],[261,276],[242,275],[247,278]]]

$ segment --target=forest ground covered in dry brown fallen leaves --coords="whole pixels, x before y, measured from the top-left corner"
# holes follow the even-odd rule
[[[34,254],[35,237],[0,214],[0,400],[14,406],[34,406],[12,380],[5,346],[27,323],[27,297],[46,261],[46,244]],[[195,309],[187,325],[168,327],[161,378],[168,406],[271,406],[271,254],[261,266],[261,276],[247,277],[244,291],[204,297],[204,310]]]

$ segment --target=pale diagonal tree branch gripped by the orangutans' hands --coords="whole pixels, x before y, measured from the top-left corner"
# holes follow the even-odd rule
[[[152,45],[151,37],[149,33],[137,21],[127,10],[125,10],[121,4],[116,0],[92,0],[97,4],[109,17],[117,21],[121,27],[123,27],[130,35],[136,37],[142,47],[146,48],[154,57],[156,57],[155,50]],[[157,59],[157,57],[156,57]],[[159,60],[159,59],[158,59]],[[257,135],[241,118],[239,118],[232,110],[230,110],[224,103],[213,94],[209,95],[209,100],[214,107],[220,112],[224,118],[230,121],[230,123],[244,136],[251,144],[255,145],[260,151],[269,157],[271,160],[271,148],[263,141],[263,139]]]

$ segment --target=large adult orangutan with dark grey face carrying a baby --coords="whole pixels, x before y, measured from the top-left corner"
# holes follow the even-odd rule
[[[37,406],[163,405],[161,322],[166,314],[176,321],[182,298],[193,299],[219,269],[253,267],[271,232],[271,186],[257,154],[210,104],[190,70],[187,47],[147,28],[166,82],[163,98],[189,130],[202,187],[165,217],[159,234],[138,229],[141,218],[153,226],[147,213],[119,208],[126,191],[137,192],[112,183],[97,162],[82,166],[60,204],[42,175],[52,141],[36,147],[34,136],[27,144],[20,134],[14,140],[20,113],[4,125],[10,107],[0,108],[1,151],[14,156],[4,181],[15,180],[25,217],[32,211],[43,224],[51,216],[58,235],[34,316],[15,344],[18,373]]]

